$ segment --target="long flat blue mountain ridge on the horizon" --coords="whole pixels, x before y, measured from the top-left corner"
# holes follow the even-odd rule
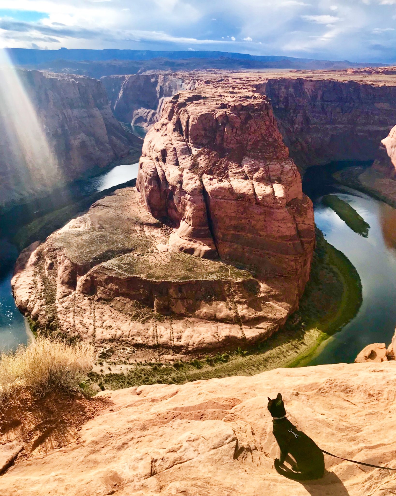
[[[269,63],[279,64],[280,61],[290,61],[291,65],[298,68],[325,68],[337,66],[341,67],[364,67],[367,65],[380,66],[380,63],[362,63],[349,61],[326,61],[316,59],[298,59],[295,57],[286,57],[279,55],[250,55],[234,52],[211,52],[211,51],[153,51],[153,50],[87,50],[87,49],[67,49],[59,50],[36,50],[28,48],[8,48],[5,49],[13,63],[17,65],[35,65],[43,64],[54,60],[63,61],[110,61],[110,60],[128,60],[128,61],[147,61],[157,58],[166,58],[168,60],[185,60],[185,59],[237,59],[246,62],[262,62],[263,66],[268,67]],[[383,64],[382,64],[383,65]],[[278,65],[277,65],[278,66]],[[316,67],[317,66],[317,67]]]

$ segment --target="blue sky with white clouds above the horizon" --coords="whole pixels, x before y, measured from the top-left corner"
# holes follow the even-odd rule
[[[0,47],[396,62],[396,0],[0,0]]]

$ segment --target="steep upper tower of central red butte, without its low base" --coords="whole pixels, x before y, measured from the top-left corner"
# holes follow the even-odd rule
[[[253,83],[220,80],[167,102],[146,136],[137,188],[150,213],[175,226],[172,251],[285,277],[296,301],[302,294],[312,203]]]

